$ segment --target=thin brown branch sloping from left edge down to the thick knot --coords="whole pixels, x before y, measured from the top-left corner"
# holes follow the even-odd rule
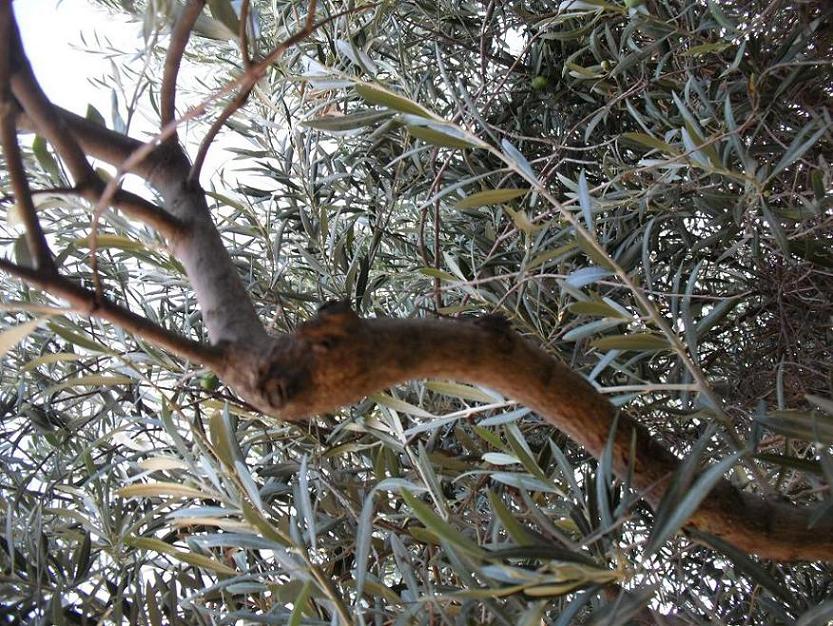
[[[202,363],[211,368],[220,367],[222,364],[223,351],[221,349],[193,341],[162,328],[120,304],[107,298],[98,298],[92,291],[59,274],[46,274],[3,258],[0,258],[0,270],[53,296],[63,298],[77,313],[107,320],[141,337],[144,341],[170,350],[183,359]]]

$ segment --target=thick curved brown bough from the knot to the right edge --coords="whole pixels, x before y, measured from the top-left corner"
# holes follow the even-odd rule
[[[218,372],[265,413],[302,419],[406,380],[450,378],[486,385],[535,410],[600,457],[615,410],[581,376],[512,331],[505,321],[358,318],[329,306],[258,354],[234,347]],[[246,366],[248,364],[248,366]],[[631,438],[636,457],[631,458]],[[679,460],[620,415],[613,468],[656,507]],[[811,511],[741,493],[721,482],[688,524],[749,553],[777,560],[833,560],[833,523],[810,529]]]

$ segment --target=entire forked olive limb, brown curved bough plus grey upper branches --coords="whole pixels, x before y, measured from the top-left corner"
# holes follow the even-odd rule
[[[238,96],[218,120],[224,123],[236,110],[235,103],[245,101],[271,63],[316,27],[314,13],[313,1],[304,29],[238,79]],[[12,37],[16,37],[16,27],[12,30]],[[19,48],[19,38],[12,45]],[[478,322],[363,320],[344,305],[331,305],[292,335],[267,336],[197,183],[205,152],[222,123],[212,126],[191,167],[171,142],[162,146],[142,144],[59,112],[37,87],[22,49],[17,54],[19,58],[13,57],[17,65],[12,67],[14,93],[33,125],[67,162],[80,189],[94,180],[89,176],[87,151],[115,163],[121,171],[142,175],[160,191],[166,210],[178,226],[169,235],[171,248],[186,269],[209,337],[217,345],[210,348],[180,337],[57,274],[23,268],[3,259],[0,270],[68,300],[80,312],[109,320],[176,354],[202,362],[253,406],[270,415],[300,420],[406,380],[452,378],[489,386],[526,404],[589,453],[601,456],[610,437],[614,408],[579,375],[528,343],[499,318],[486,317]],[[166,94],[174,90],[176,72],[171,71],[173,78],[167,81]],[[164,115],[173,119],[173,96],[168,94],[166,99]],[[174,123],[165,124],[157,139],[170,136]],[[92,189],[100,193],[96,187]],[[156,209],[143,206],[137,213],[144,211],[150,221]],[[632,458],[634,440],[636,453]],[[613,446],[614,471],[621,478],[632,474],[633,486],[654,507],[679,464],[679,459],[653,440],[644,427],[625,415],[619,416]],[[806,509],[741,493],[724,481],[690,518],[689,525],[765,558],[833,560],[833,523],[824,521],[808,529],[809,518]]]

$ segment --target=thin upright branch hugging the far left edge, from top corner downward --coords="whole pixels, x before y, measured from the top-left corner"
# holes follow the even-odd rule
[[[35,204],[32,202],[32,193],[29,189],[29,181],[26,178],[26,168],[20,156],[20,146],[17,143],[17,128],[15,118],[17,117],[17,105],[12,98],[11,78],[11,30],[12,30],[11,6],[8,3],[0,4],[0,41],[7,42],[7,45],[0,51],[0,141],[2,141],[3,154],[6,158],[6,169],[11,179],[12,191],[15,202],[20,210],[23,224],[26,227],[26,243],[29,251],[35,259],[35,267],[43,272],[52,273],[55,271],[55,262],[52,259],[52,252],[46,241],[46,236],[41,228]]]

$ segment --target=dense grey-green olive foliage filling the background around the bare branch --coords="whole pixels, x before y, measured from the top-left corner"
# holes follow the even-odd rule
[[[170,16],[167,3],[110,4],[142,21],[145,46],[107,52],[108,124],[139,134]],[[240,71],[230,5],[209,4],[180,103]],[[306,4],[254,8],[258,57]],[[744,451],[736,484],[833,514],[829,4],[318,13],[348,8],[275,65],[213,148],[229,158],[205,179],[212,208],[261,316],[288,330],[328,299],[365,315],[501,313],[688,455],[681,484]],[[204,130],[182,132],[193,146]],[[89,206],[60,193],[49,146],[26,145],[62,269],[91,281]],[[25,261],[2,211],[4,250]],[[203,337],[156,234],[105,214],[97,259],[108,293]],[[4,623],[833,613],[829,565],[675,534],[674,510],[705,485],[655,514],[609,461],[487,389],[413,383],[282,424],[141,337],[0,280],[12,328],[0,347],[24,338],[0,371]]]

